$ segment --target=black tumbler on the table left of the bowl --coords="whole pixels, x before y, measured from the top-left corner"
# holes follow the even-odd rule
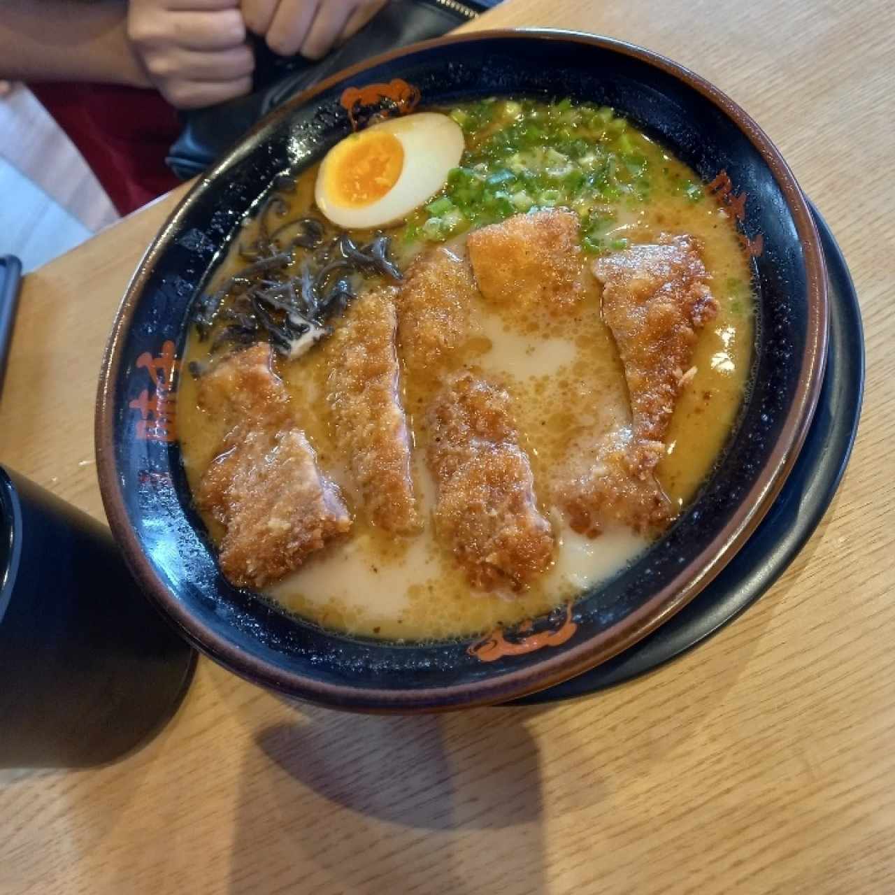
[[[107,528],[0,468],[0,768],[130,752],[174,714],[194,665]]]

